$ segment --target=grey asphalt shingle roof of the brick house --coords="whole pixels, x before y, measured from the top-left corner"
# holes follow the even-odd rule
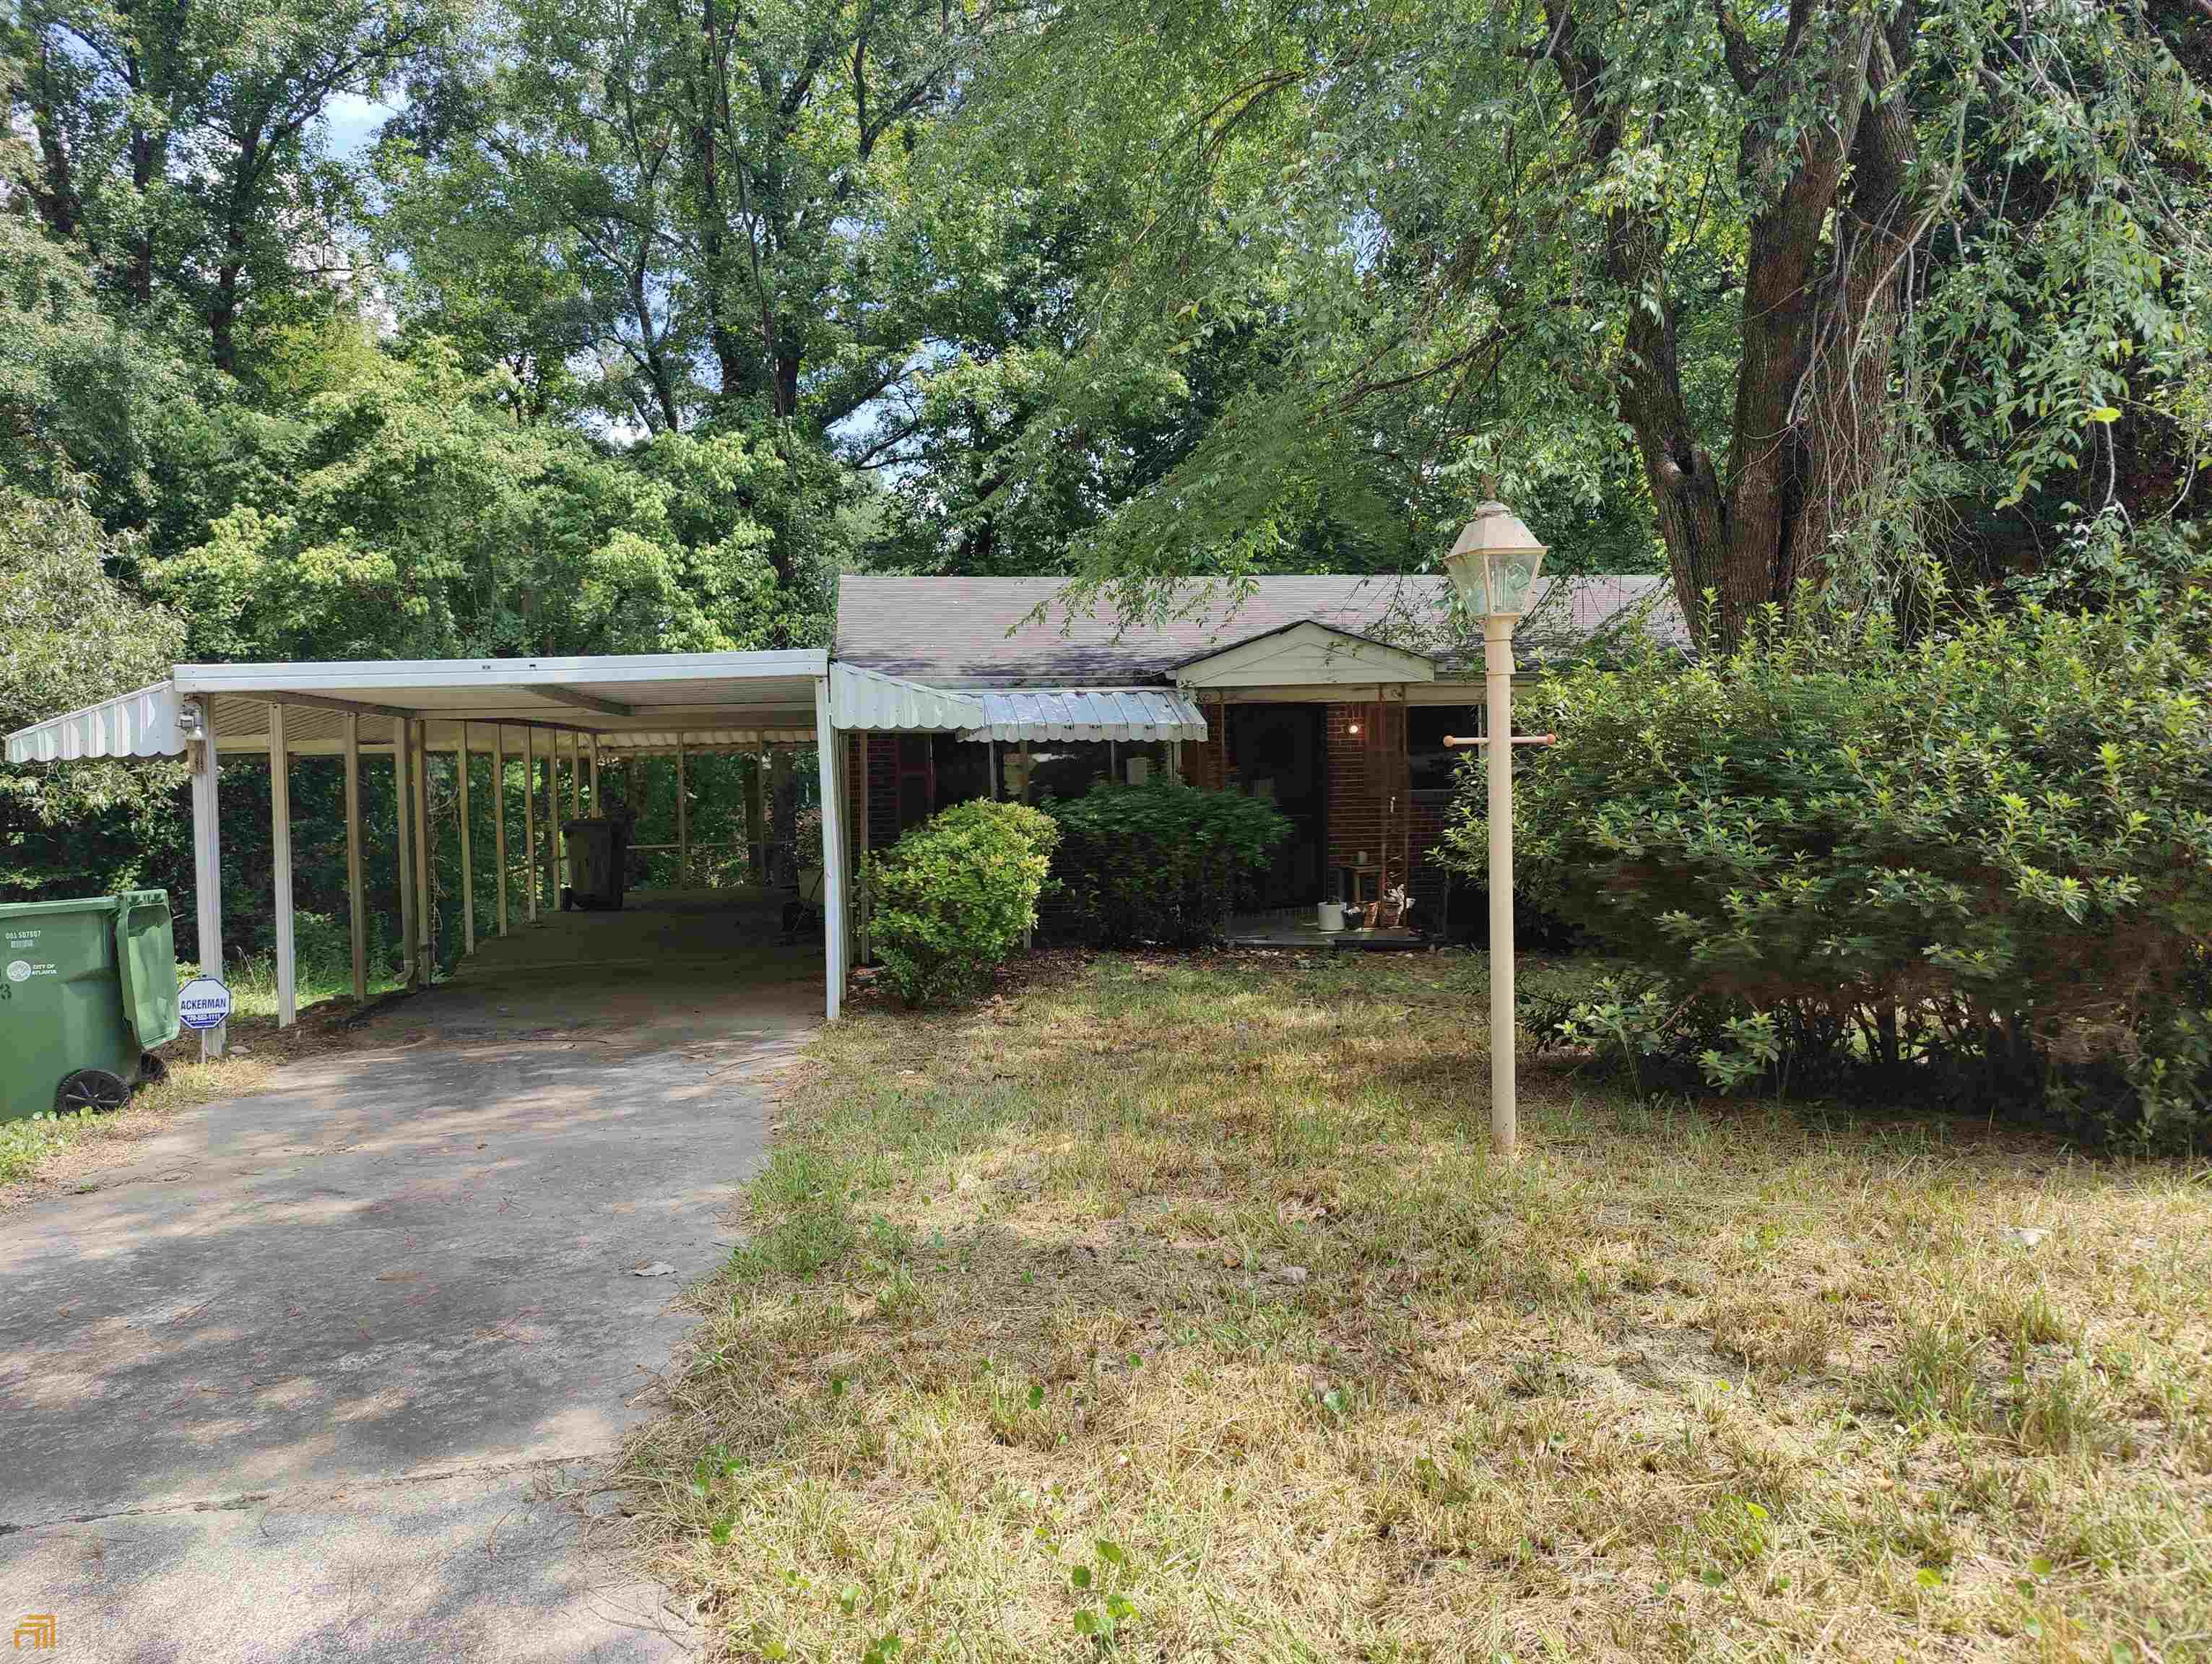
[[[1175,666],[1301,620],[1436,655],[1438,675],[1480,675],[1473,635],[1451,617],[1444,578],[1261,578],[1234,597],[1192,584],[1177,617],[1121,626],[1113,604],[1066,617],[1064,578],[838,580],[834,655],[938,688],[1133,688],[1175,679]],[[1641,631],[1688,646],[1666,578],[1551,578],[1520,628],[1522,657],[1559,655],[1593,637]],[[1042,622],[1026,622],[1037,609]]]

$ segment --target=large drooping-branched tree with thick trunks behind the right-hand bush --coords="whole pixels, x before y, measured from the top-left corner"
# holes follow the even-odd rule
[[[1400,434],[1416,549],[1486,476],[1590,511],[1626,431],[1721,644],[1801,586],[1885,602],[1955,516],[1944,487],[2070,467],[2121,381],[2190,420],[2208,119],[2177,18],[1110,0],[1009,33],[969,155],[1068,179],[1124,232],[1040,423],[1283,299],[1303,325],[1294,374],[1230,401],[1086,544],[1091,575],[1256,569],[1316,480]],[[1975,294],[2006,310],[1944,336]],[[1951,474],[1913,474],[1931,434]]]

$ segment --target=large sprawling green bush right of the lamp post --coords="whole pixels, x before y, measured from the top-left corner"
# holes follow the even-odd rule
[[[1714,1086],[1863,1080],[2188,1135],[2212,1104],[2208,609],[1765,633],[1573,668],[1520,885],[1657,982],[1568,1020]],[[1482,872],[1482,797],[1449,832]],[[1608,1009],[1610,1007],[1610,1009]]]

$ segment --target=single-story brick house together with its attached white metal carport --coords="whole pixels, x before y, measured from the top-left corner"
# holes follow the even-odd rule
[[[1427,861],[1451,786],[1451,732],[1482,732],[1480,653],[1442,578],[1261,578],[1175,595],[1161,620],[1066,615],[1055,578],[845,578],[832,648],[617,653],[531,659],[177,664],[133,693],[7,735],[9,763],[181,757],[192,777],[197,940],[223,963],[221,777],[268,768],[276,1020],[294,1020],[294,768],[338,763],[345,803],[354,994],[367,994],[361,781],[389,766],[394,881],[409,982],[436,974],[434,850],[451,836],[462,951],[484,927],[538,918],[560,894],[564,817],[597,812],[604,761],[675,774],[677,874],[690,874],[686,761],[812,752],[818,770],[825,1011],[852,967],[854,856],[967,797],[1075,794],[1102,774],[1175,770],[1197,786],[1274,799],[1294,834],[1261,903],[1363,901],[1440,887]],[[1522,664],[1641,631],[1683,644],[1661,578],[1559,578],[1522,620]],[[431,812],[431,759],[449,759],[451,825]],[[493,792],[491,847],[471,843],[482,770],[522,763],[522,814]],[[761,770],[748,845],[765,852]],[[520,825],[511,825],[520,819]],[[513,850],[520,850],[515,859]],[[511,885],[522,876],[520,905]],[[1416,909],[1416,923],[1438,918]],[[863,943],[865,945],[865,936]],[[221,1029],[204,1036],[221,1049]]]

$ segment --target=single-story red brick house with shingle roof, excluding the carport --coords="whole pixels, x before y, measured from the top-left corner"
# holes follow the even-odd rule
[[[838,664],[978,695],[993,732],[869,732],[847,743],[852,836],[883,847],[971,797],[1071,797],[1175,770],[1272,799],[1292,823],[1263,907],[1371,901],[1405,883],[1440,921],[1447,735],[1484,732],[1480,622],[1442,578],[1259,578],[1190,586],[1155,622],[1068,615],[1057,578],[869,578],[838,586]],[[1666,578],[1555,578],[1522,622],[1524,666],[1626,633],[1686,646]],[[1155,739],[1099,737],[1148,704]],[[1048,730],[1035,721],[1044,717]],[[1060,717],[1057,724],[1051,719]],[[1024,726],[1026,724],[1026,726]],[[1128,732],[1128,728],[1119,728]],[[1026,737],[1020,737],[1026,735]]]

